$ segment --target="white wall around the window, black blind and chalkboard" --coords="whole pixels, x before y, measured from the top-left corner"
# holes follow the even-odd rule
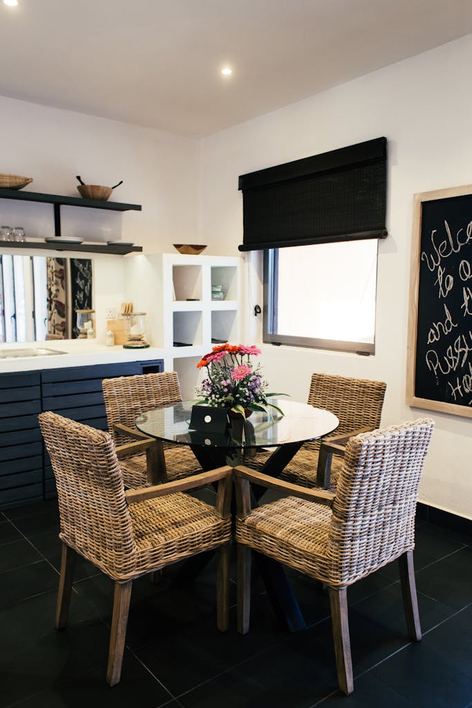
[[[421,501],[469,518],[472,419],[410,409],[405,369],[412,195],[472,183],[471,66],[468,35],[205,139],[199,224],[199,242],[233,255],[242,241],[238,175],[387,137],[389,235],[379,244],[376,355],[266,346],[263,365],[273,389],[302,400],[314,371],[385,380],[382,425],[424,415],[437,421]],[[258,264],[246,292],[253,337],[260,329],[251,307],[262,295],[258,256],[251,263]]]

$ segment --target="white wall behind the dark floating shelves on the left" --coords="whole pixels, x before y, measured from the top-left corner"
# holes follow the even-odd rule
[[[199,143],[158,130],[0,96],[1,171],[33,177],[26,189],[79,197],[76,175],[113,186],[111,200],[142,212],[62,207],[63,235],[119,239],[147,253],[195,243]],[[52,206],[0,200],[1,223],[52,236]]]

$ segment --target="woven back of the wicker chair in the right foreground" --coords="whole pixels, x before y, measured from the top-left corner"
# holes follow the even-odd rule
[[[418,486],[434,421],[420,418],[347,443],[333,505],[330,586],[347,586],[415,546]]]

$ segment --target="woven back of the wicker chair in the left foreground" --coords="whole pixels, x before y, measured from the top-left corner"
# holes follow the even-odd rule
[[[41,413],[59,499],[60,538],[111,577],[136,549],[113,440],[103,430]]]

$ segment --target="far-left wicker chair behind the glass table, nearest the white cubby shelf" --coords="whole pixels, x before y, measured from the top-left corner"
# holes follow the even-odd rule
[[[141,413],[182,400],[175,371],[103,379],[102,387],[108,430],[128,489],[202,472],[189,447],[159,442],[134,425]]]

